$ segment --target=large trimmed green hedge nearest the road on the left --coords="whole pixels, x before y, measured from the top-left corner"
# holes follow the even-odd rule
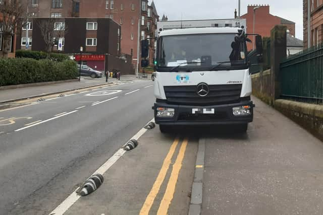
[[[0,86],[71,80],[78,77],[76,62],[49,59],[0,58]]]

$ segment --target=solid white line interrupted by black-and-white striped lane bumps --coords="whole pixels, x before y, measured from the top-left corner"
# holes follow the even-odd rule
[[[154,119],[150,120],[154,121]],[[149,122],[148,122],[149,123]],[[147,129],[142,128],[136,133],[131,139],[139,139]],[[125,146],[125,145],[124,145]],[[124,147],[123,146],[123,147]],[[126,151],[121,148],[119,149],[109,160],[107,160],[102,166],[100,166],[93,174],[99,173],[103,175],[107,170],[109,170],[124,154]],[[93,175],[92,174],[92,175]],[[73,193],[71,193],[57,208],[49,213],[49,215],[63,215],[81,196],[76,193],[79,189],[78,187]]]

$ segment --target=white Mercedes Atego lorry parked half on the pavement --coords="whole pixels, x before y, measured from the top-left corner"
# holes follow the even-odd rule
[[[176,125],[253,120],[244,19],[158,22],[152,107],[161,132]],[[242,25],[241,25],[242,24]],[[261,60],[262,40],[256,36]]]

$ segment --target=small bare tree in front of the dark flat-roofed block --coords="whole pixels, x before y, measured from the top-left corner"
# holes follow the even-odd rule
[[[63,37],[67,31],[67,26],[65,25],[65,22],[60,21],[60,19],[57,18],[39,19],[37,24],[45,42],[46,52],[49,55],[55,45],[54,38]]]

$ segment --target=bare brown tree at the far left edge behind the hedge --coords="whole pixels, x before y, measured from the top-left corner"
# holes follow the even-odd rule
[[[3,57],[8,58],[10,43],[15,31],[21,29],[27,13],[20,0],[4,0],[0,5],[0,17],[2,17],[2,35],[4,37]]]

